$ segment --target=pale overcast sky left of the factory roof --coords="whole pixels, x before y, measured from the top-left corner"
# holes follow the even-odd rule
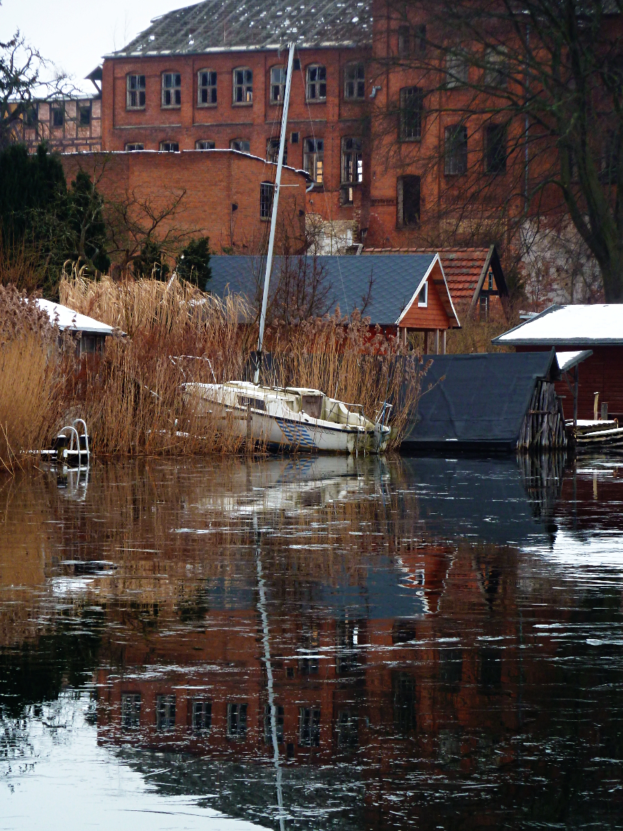
[[[101,63],[150,25],[153,17],[197,0],[0,0],[0,40],[19,28],[43,57],[76,78],[76,86]]]

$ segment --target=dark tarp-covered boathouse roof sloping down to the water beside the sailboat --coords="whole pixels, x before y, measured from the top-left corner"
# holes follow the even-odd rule
[[[551,352],[428,355],[402,450],[513,451],[538,381],[560,377]]]

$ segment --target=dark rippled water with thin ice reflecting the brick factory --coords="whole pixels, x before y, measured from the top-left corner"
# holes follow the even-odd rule
[[[0,828],[623,827],[623,463],[0,482]]]

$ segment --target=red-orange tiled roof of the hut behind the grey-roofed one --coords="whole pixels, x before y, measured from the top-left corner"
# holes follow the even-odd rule
[[[429,248],[368,248],[361,253],[370,255],[375,253],[405,254],[428,253]],[[504,278],[502,263],[495,245],[488,248],[436,248],[439,252],[450,296],[457,306],[467,305],[474,307],[478,301],[478,294],[483,288],[484,280],[489,267],[493,269],[493,277],[502,297],[508,297],[508,287]]]

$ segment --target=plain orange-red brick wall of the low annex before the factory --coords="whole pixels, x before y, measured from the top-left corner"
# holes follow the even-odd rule
[[[207,234],[216,253],[234,248],[238,253],[257,253],[267,239],[268,222],[260,219],[260,183],[274,179],[274,165],[249,155],[219,150],[181,153],[89,153],[61,156],[67,181],[77,170],[86,170],[105,199],[125,199],[135,194],[156,207],[170,204],[184,194],[174,219],[176,227]],[[277,250],[284,233],[300,250],[305,231],[307,179],[284,169],[279,198]],[[184,193],[185,191],[185,193]],[[233,204],[238,205],[233,210]],[[300,215],[303,212],[303,215]]]

